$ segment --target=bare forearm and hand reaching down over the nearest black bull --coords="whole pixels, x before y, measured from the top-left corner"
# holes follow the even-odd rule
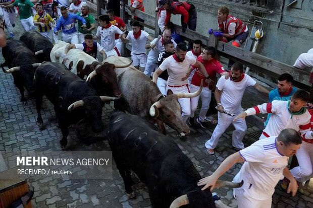
[[[244,160],[240,157],[239,152],[228,156],[211,176],[200,179],[198,182],[198,186],[205,185],[203,188],[201,188],[201,190],[204,190],[211,186],[210,189],[212,191],[215,187],[216,181],[234,164],[241,162],[244,162]]]

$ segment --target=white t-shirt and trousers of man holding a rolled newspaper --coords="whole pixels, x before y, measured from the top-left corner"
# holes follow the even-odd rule
[[[225,110],[238,115],[242,112],[241,100],[244,94],[244,91],[249,86],[254,86],[256,82],[246,74],[242,74],[241,78],[238,81],[233,81],[231,78],[228,80],[225,79],[225,76],[222,76],[216,87],[218,90],[222,91],[221,94],[221,104]],[[247,129],[245,120],[238,119],[233,121],[234,117],[227,115],[225,113],[218,112],[218,125],[213,131],[211,139],[206,141],[205,147],[207,149],[216,148],[221,135],[225,132],[228,126],[232,123],[236,130],[233,131],[232,135],[232,145],[235,148],[243,149],[243,137]]]

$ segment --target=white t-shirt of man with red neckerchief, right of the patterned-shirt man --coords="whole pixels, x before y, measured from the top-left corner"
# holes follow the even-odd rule
[[[126,39],[130,40],[132,46],[131,46],[131,55],[136,53],[146,53],[145,44],[147,42],[148,33],[146,31],[141,30],[140,37],[135,39],[134,37],[134,31],[129,31]]]

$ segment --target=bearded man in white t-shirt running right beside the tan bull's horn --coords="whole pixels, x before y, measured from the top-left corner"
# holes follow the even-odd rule
[[[185,78],[186,74],[189,72],[189,65],[194,65],[199,67],[200,71],[203,73],[205,81],[211,84],[211,80],[208,79],[207,72],[199,61],[195,58],[186,55],[187,47],[184,43],[179,43],[176,47],[176,52],[163,61],[159,66],[158,70],[153,74],[153,82],[158,81],[159,76],[165,70],[169,73],[167,94],[177,94],[177,93],[190,93],[188,88],[188,82]],[[182,119],[186,121],[190,116],[190,98],[179,98],[178,102],[182,108]]]

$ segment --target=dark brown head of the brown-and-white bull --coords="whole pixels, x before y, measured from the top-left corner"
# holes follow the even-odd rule
[[[115,68],[125,68],[131,64],[132,62],[123,65],[105,62],[89,74],[87,82],[90,82],[100,95],[121,97],[122,93],[117,84]]]

